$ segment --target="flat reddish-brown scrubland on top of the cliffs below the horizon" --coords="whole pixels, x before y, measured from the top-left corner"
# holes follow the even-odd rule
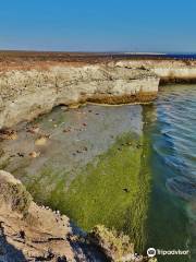
[[[172,58],[152,55],[123,55],[96,52],[46,52],[46,51],[0,51],[0,71],[47,70],[52,66],[81,67],[85,64],[108,63],[120,60],[176,61]],[[185,66],[196,61],[184,60]]]

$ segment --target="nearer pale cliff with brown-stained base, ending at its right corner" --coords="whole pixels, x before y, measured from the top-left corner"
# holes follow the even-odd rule
[[[158,83],[148,70],[103,64],[1,72],[0,129],[61,104],[151,100]]]

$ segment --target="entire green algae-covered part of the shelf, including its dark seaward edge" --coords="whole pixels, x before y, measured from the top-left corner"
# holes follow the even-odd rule
[[[66,170],[47,166],[28,180],[27,189],[36,201],[60,210],[85,230],[97,224],[123,230],[140,251],[149,193],[149,172],[142,168],[144,148],[143,136],[123,134],[74,179]]]

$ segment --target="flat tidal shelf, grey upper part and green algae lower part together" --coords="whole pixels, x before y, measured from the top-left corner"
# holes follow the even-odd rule
[[[34,147],[34,135],[22,131],[10,146],[25,156],[12,158],[7,170],[37,203],[60,210],[87,231],[98,224],[123,231],[140,252],[150,183],[143,168],[148,152],[140,112],[137,106],[89,107],[72,115],[57,108],[33,123],[50,134],[48,144]],[[63,132],[69,127],[71,132]],[[30,158],[32,151],[40,157]]]

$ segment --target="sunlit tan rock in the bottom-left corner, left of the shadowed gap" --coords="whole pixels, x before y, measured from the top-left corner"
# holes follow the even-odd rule
[[[75,261],[65,239],[71,231],[66,216],[39,207],[17,179],[0,170],[0,261],[42,261],[50,257],[49,261],[65,261],[64,254]]]

